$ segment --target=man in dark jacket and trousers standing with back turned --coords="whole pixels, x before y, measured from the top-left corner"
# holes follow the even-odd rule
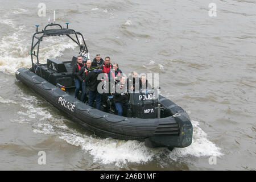
[[[96,108],[100,110],[101,107],[101,94],[98,93],[98,84],[101,82],[98,80],[98,75],[102,73],[102,70],[97,67],[97,63],[92,63],[92,68],[85,77],[85,82],[89,90],[89,106],[93,106],[94,99],[96,99]]]

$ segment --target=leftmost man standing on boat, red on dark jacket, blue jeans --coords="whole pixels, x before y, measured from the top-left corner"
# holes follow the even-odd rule
[[[76,89],[75,89],[75,97],[78,98],[79,96],[79,90],[81,88],[81,81],[79,80],[79,78],[77,77],[80,69],[82,67],[84,67],[85,63],[83,64],[82,63],[82,56],[78,56],[77,57],[77,64],[75,64],[73,66],[73,71],[72,71],[72,75],[74,77],[74,82],[75,82],[75,86],[76,86]]]

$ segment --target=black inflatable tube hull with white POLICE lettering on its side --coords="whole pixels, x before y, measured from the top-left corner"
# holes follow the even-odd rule
[[[15,76],[57,109],[67,113],[72,120],[101,137],[139,140],[148,147],[187,147],[192,142],[193,127],[188,114],[163,96],[159,95],[159,102],[173,116],[161,119],[127,118],[94,109],[29,69],[20,68]]]

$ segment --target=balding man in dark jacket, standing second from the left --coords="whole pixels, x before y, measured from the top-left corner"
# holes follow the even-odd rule
[[[92,65],[92,61],[91,60],[87,60],[86,61],[86,65],[84,67],[82,67],[79,71],[79,73],[77,74],[77,77],[79,78],[79,80],[81,81],[81,85],[82,85],[82,96],[81,96],[81,101],[85,102],[85,93],[86,93],[86,82],[85,82],[85,78],[88,75],[88,71],[90,70],[90,67]]]

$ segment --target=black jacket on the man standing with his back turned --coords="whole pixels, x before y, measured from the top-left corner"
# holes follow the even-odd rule
[[[96,67],[92,67],[91,69],[93,68]],[[101,69],[93,69],[86,75],[85,82],[90,91],[97,91],[98,84],[101,82],[101,80],[98,80],[98,75],[100,75],[100,73],[103,73]]]

